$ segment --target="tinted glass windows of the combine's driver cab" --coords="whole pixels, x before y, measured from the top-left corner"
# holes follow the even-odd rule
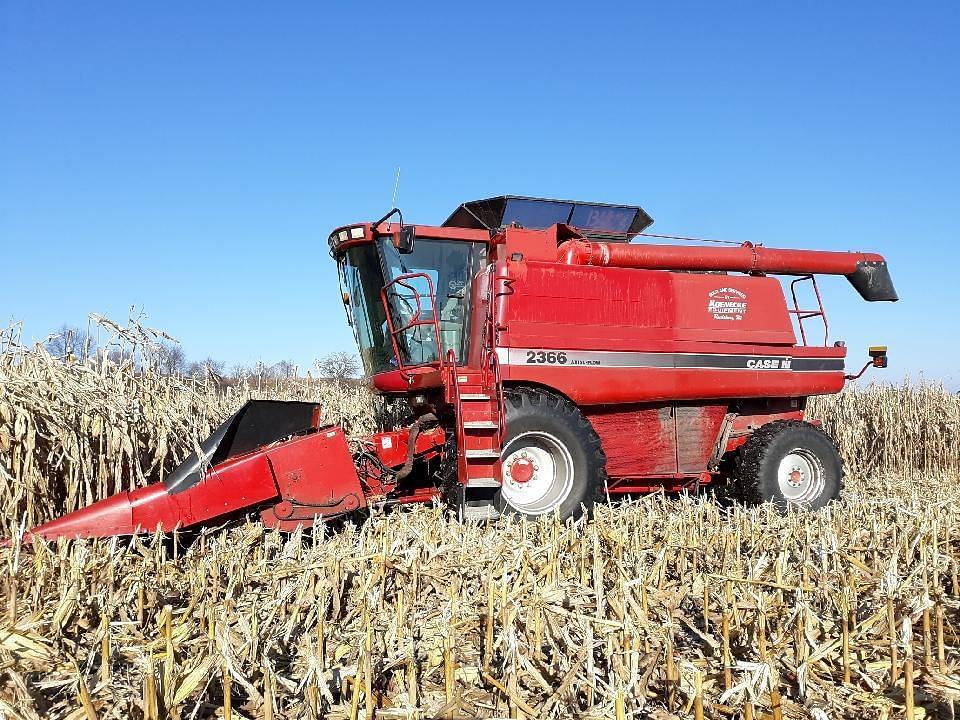
[[[484,243],[418,238],[414,251],[401,255],[389,237],[376,247],[361,245],[347,250],[341,272],[364,371],[375,375],[398,367],[380,291],[384,277],[389,281],[410,274],[416,276],[387,291],[403,364],[421,365],[442,357],[432,322],[435,314],[440,352],[453,350],[457,361],[463,362],[469,334],[470,281],[485,265],[486,253]],[[401,330],[415,319],[430,322]]]

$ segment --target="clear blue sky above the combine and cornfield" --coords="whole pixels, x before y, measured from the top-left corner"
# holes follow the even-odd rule
[[[957,386],[957,7],[0,0],[0,322],[352,349],[326,236],[399,166],[420,223],[515,193],[881,252],[901,302],[825,282],[833,338]]]

